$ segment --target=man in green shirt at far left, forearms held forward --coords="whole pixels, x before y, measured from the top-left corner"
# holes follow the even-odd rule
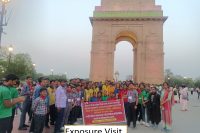
[[[11,88],[16,84],[18,77],[14,74],[5,76],[3,85],[0,86],[0,133],[11,132],[12,108],[15,104],[24,101],[24,97],[12,98]]]

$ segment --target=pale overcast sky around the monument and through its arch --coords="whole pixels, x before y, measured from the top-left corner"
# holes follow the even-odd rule
[[[156,0],[162,5],[165,69],[186,77],[200,76],[200,1]],[[13,9],[2,44],[29,53],[38,72],[87,78],[92,26],[89,17],[100,0],[11,0]],[[9,11],[10,11],[9,10]],[[122,45],[121,45],[122,44]],[[117,45],[115,69],[125,79],[132,72],[132,46]],[[130,63],[131,62],[131,63]],[[126,69],[123,69],[126,65]]]

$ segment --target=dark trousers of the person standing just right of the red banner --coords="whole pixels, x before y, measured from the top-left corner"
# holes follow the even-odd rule
[[[127,117],[127,125],[130,126],[131,121],[133,122],[133,127],[136,126],[136,109],[135,102],[128,103],[128,117]]]

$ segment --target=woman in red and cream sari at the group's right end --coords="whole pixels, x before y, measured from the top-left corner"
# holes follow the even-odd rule
[[[161,94],[161,109],[163,131],[169,132],[172,129],[172,105],[173,91],[167,82],[163,83],[163,92]]]

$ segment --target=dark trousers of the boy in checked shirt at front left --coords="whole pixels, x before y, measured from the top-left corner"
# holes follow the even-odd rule
[[[34,115],[34,133],[42,133],[44,129],[45,115]]]

